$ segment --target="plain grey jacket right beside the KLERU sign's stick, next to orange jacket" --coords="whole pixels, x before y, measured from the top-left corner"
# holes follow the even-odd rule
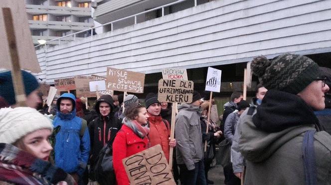
[[[194,163],[203,159],[202,132],[199,106],[181,104],[175,118],[176,159],[177,164],[185,164],[187,170],[193,170]]]

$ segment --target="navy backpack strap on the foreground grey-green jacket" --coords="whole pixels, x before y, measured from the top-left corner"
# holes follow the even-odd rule
[[[304,140],[302,142],[306,185],[317,184],[314,135],[315,130],[306,131],[304,135]]]

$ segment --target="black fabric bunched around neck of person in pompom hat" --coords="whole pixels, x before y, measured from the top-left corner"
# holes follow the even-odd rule
[[[315,124],[323,130],[313,109],[298,95],[269,90],[253,116],[255,126],[266,132],[278,132],[286,128]]]

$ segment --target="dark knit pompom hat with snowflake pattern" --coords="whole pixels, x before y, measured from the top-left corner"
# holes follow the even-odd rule
[[[319,65],[302,55],[283,54],[268,60],[265,56],[253,59],[253,74],[268,90],[276,89],[298,94],[320,76]]]

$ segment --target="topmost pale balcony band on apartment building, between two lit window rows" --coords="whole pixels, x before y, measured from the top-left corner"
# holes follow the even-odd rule
[[[27,13],[32,14],[65,14],[76,16],[91,16],[91,8],[83,7],[62,7],[26,4],[25,9]]]

